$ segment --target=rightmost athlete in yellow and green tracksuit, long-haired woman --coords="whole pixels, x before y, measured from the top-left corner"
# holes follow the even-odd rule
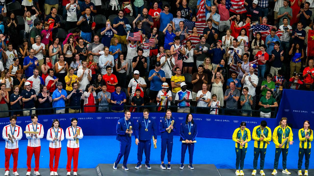
[[[305,121],[303,128],[299,130],[299,161],[298,161],[298,175],[302,175],[301,167],[303,156],[305,155],[305,171],[304,175],[308,175],[307,169],[309,168],[310,155],[311,155],[311,142],[313,141],[313,130],[310,128],[310,122]]]

